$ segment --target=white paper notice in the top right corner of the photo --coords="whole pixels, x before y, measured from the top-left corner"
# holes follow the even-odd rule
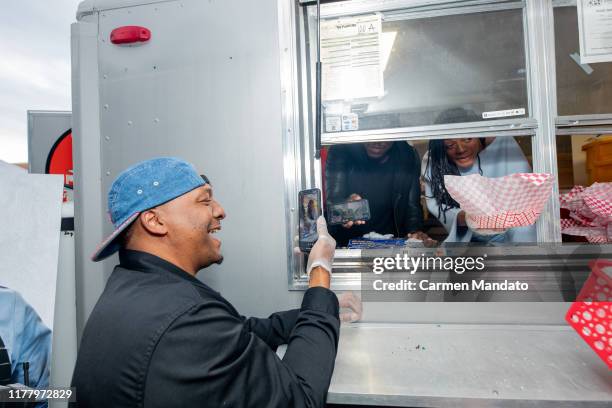
[[[612,61],[612,0],[578,0],[582,64]]]

